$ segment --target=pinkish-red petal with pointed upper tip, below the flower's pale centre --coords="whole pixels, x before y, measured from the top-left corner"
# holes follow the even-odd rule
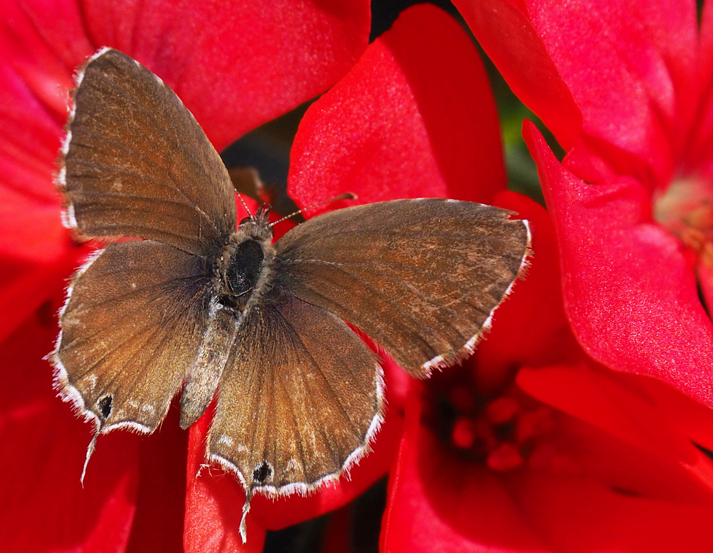
[[[587,185],[532,123],[523,134],[558,221],[565,311],[585,351],[713,405],[713,325],[679,242],[650,222],[647,192],[626,177]]]

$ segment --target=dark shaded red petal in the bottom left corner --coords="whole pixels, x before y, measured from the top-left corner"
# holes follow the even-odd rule
[[[52,369],[42,357],[57,332],[51,318],[32,316],[0,344],[3,548],[123,551],[135,510],[138,437],[101,436],[82,487],[92,427],[52,390]]]

